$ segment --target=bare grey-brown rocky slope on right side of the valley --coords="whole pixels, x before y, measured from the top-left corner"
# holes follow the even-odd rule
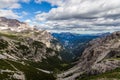
[[[120,32],[92,40],[78,64],[59,74],[58,80],[75,80],[83,74],[99,74],[120,67]]]

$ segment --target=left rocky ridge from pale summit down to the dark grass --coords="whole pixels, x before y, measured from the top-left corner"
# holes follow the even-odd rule
[[[1,48],[5,47],[5,53],[19,58],[33,58],[36,61],[46,56],[54,56],[61,49],[61,45],[47,31],[40,31],[24,22],[4,17],[0,17],[0,43]]]

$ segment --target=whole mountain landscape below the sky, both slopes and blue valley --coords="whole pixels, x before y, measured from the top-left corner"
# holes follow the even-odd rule
[[[0,17],[0,80],[120,80],[120,32],[49,33]]]

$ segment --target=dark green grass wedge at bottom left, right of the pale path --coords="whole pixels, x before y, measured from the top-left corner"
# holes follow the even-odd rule
[[[24,72],[27,80],[54,80],[52,74],[46,74],[29,65],[22,65],[17,62],[9,61],[20,71]]]

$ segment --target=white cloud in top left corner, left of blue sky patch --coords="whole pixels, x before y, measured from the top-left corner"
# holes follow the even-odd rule
[[[0,17],[7,18],[20,18],[18,13],[14,12],[13,9],[21,8],[20,2],[29,2],[30,0],[0,0]],[[23,12],[25,15],[26,13]]]

